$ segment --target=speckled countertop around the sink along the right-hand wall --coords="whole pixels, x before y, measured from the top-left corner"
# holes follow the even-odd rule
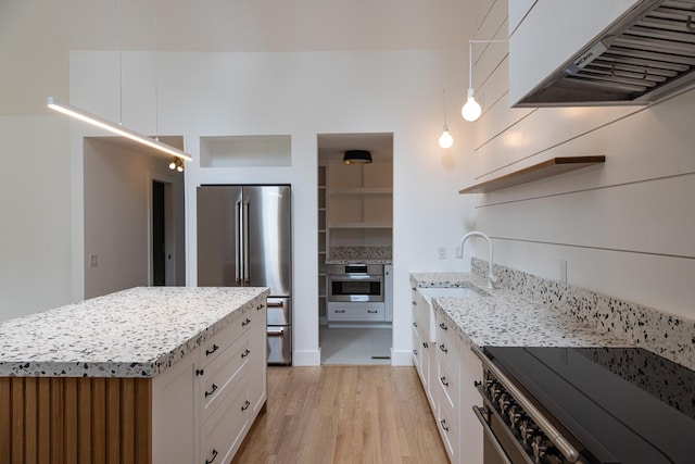
[[[467,273],[414,273],[416,287],[477,287],[480,298],[434,298],[434,310],[458,329],[471,348],[631,347],[627,338],[606,334],[578,318],[506,289],[488,290],[484,277]]]

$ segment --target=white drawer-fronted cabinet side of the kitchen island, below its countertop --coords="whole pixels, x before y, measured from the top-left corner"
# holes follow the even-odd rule
[[[265,299],[239,311],[240,317],[154,377],[154,463],[227,463],[263,409]]]

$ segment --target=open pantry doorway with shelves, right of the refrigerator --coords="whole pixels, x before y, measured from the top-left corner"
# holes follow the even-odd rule
[[[317,148],[321,364],[391,364],[393,134],[321,134]],[[344,163],[351,150],[370,161]],[[383,267],[383,301],[331,301],[334,265],[367,264]]]

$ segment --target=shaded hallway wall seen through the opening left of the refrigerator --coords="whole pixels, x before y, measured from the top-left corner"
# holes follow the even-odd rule
[[[168,158],[147,155],[94,138],[85,139],[85,298],[151,283],[152,180],[170,183],[180,205],[174,240],[185,267],[184,175],[168,168]],[[177,229],[177,230],[176,230]],[[176,234],[178,231],[178,234]]]

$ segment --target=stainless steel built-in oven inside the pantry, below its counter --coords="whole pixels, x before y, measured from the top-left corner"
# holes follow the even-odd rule
[[[330,264],[329,302],[382,302],[383,264]]]

